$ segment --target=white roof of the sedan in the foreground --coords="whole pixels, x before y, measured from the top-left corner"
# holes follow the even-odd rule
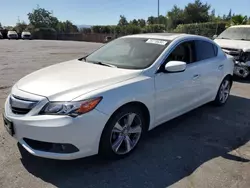
[[[195,36],[185,33],[145,33],[145,34],[135,34],[135,35],[127,35],[123,38],[154,38],[154,39],[162,39],[162,40],[174,40],[179,37],[187,37],[187,36]]]

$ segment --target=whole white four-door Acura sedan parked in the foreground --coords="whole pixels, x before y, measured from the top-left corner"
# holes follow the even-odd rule
[[[36,156],[120,158],[163,122],[211,101],[225,104],[233,68],[205,37],[125,36],[19,80],[6,100],[4,125]]]

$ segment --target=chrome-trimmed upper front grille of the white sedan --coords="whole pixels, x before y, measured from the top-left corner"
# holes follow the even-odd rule
[[[10,108],[14,114],[25,115],[37,104],[38,101],[24,99],[19,96],[11,95]]]

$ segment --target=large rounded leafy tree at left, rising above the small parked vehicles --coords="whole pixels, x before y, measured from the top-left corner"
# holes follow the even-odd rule
[[[39,6],[31,13],[28,13],[28,19],[35,28],[47,27],[56,29],[59,22],[58,19],[52,15],[52,12]]]

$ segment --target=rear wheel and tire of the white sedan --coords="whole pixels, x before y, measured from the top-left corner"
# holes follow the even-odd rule
[[[232,87],[232,81],[230,77],[227,76],[223,79],[223,81],[220,84],[216,98],[213,101],[214,105],[223,106],[224,104],[226,104],[230,95],[231,87]]]

